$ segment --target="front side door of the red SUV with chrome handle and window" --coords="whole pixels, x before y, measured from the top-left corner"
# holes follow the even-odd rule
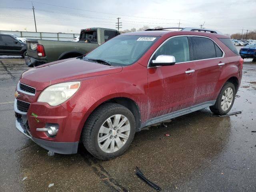
[[[158,48],[152,60],[159,55],[174,56],[176,64],[148,67],[149,119],[193,105],[196,76],[194,62],[190,62],[188,38],[170,38]]]

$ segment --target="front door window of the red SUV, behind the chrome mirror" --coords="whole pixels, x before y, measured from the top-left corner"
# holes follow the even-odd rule
[[[189,45],[187,37],[175,37],[165,42],[154,54],[153,60],[159,55],[171,55],[175,57],[176,63],[190,60]]]

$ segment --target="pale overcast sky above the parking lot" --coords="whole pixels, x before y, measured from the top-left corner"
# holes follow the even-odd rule
[[[256,0],[32,0],[38,32],[80,33],[83,28],[144,25],[198,27],[233,34],[256,30]],[[0,30],[35,31],[31,1],[0,0]]]

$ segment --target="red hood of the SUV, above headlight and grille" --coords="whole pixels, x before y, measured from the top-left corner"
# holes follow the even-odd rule
[[[24,72],[20,82],[41,91],[52,84],[83,80],[84,78],[114,74],[122,71],[120,66],[88,62],[71,58],[32,68]]]

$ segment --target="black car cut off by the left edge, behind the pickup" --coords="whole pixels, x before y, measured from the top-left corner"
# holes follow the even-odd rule
[[[0,34],[0,55],[26,56],[26,44],[13,35]]]

